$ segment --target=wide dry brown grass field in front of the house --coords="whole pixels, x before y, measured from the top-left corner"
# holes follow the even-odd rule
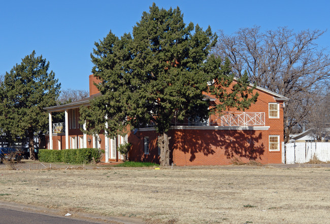
[[[1,169],[0,201],[148,223],[330,223],[330,168]]]

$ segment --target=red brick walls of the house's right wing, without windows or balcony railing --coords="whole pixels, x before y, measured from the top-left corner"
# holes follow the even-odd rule
[[[274,96],[266,91],[254,92],[259,93],[257,102],[246,112],[264,112],[264,128],[247,127],[248,130],[244,130],[235,127],[176,127],[168,132],[171,136],[170,163],[178,166],[226,165],[236,159],[243,162],[255,160],[262,164],[281,163],[281,144],[279,151],[270,151],[269,136],[279,136],[280,142],[283,141],[283,101],[276,101]],[[269,118],[269,103],[272,102],[279,103],[279,118]],[[130,133],[128,141],[133,144],[133,148],[129,159],[158,163],[158,135],[150,128],[139,129],[135,135]],[[148,155],[144,154],[144,137],[149,138]]]

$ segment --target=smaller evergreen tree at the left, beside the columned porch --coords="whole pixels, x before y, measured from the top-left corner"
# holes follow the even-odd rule
[[[56,105],[60,90],[55,73],[48,73],[49,62],[35,54],[6,72],[0,88],[0,127],[13,137],[29,137],[31,159],[35,159],[34,134],[48,127],[43,107]]]

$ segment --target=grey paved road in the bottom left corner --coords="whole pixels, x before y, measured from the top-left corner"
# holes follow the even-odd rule
[[[36,223],[68,223],[68,224],[88,224],[96,223],[89,222],[79,219],[72,219],[66,217],[56,217],[46,214],[38,214],[26,211],[16,211],[7,208],[0,208],[0,223],[26,223],[26,224],[36,224]]]

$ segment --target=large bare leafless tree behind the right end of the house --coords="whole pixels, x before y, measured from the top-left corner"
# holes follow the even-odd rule
[[[261,32],[259,26],[232,35],[218,33],[213,54],[228,57],[238,76],[246,70],[256,85],[291,99],[284,108],[285,142],[292,128],[305,122],[313,110],[315,93],[324,91],[320,83],[330,78],[329,55],[315,43],[323,33],[286,27]]]

